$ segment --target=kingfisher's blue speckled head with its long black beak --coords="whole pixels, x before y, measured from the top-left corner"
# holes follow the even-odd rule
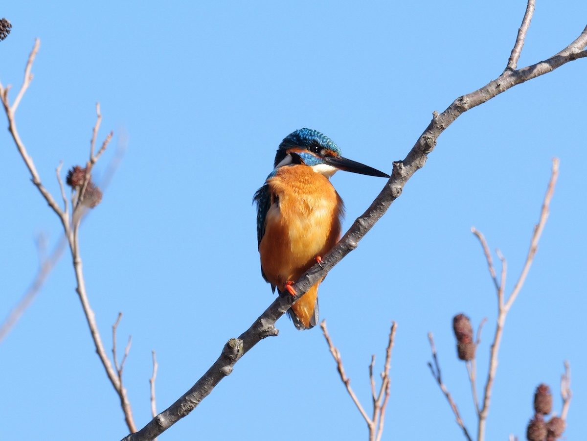
[[[389,175],[359,162],[342,157],[339,147],[328,136],[312,129],[299,129],[288,134],[279,144],[274,168],[289,164],[303,164],[317,173],[330,177],[338,170],[369,176]]]

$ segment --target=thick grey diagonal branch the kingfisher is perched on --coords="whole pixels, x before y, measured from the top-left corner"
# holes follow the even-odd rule
[[[298,294],[278,297],[247,331],[237,339],[233,338],[227,342],[218,359],[188,392],[153,418],[139,432],[124,437],[124,441],[151,440],[163,433],[194,410],[201,400],[210,394],[214,386],[232,372],[235,363],[241,359],[242,355],[267,336],[278,335],[279,331],[275,328],[276,320],[285,314],[295,301],[321,280],[350,251],[355,250],[359,241],[385,214],[393,201],[402,194],[406,182],[424,166],[428,154],[436,146],[438,136],[459,116],[511,89],[511,87],[552,72],[572,60],[587,56],[587,51],[583,51],[585,46],[587,46],[587,26],[575,41],[551,58],[519,70],[506,70],[498,78],[480,89],[458,97],[444,112],[440,114],[434,112],[433,119],[407,154],[406,159],[393,164],[392,176],[381,193],[367,208],[367,211],[355,220],[339,243],[322,257],[322,267],[318,264],[314,265],[296,281],[294,288]]]

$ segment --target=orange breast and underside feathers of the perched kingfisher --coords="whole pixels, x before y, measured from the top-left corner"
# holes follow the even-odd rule
[[[268,281],[284,291],[287,281],[297,280],[339,240],[343,204],[330,181],[308,166],[281,167],[268,184],[271,207],[259,243],[261,267]],[[306,327],[316,289],[292,307],[296,316],[308,316],[299,317]]]

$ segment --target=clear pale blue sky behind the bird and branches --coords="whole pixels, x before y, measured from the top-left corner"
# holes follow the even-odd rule
[[[275,149],[295,129],[331,137],[343,154],[390,172],[454,99],[505,68],[525,1],[444,2],[5,2],[14,28],[0,43],[0,79],[22,81],[34,38],[35,79],[17,113],[43,183],[55,167],[86,160],[102,105],[100,140],[123,134],[123,163],[83,225],[87,290],[107,349],[119,311],[119,346],[137,425],[150,420],[151,349],[157,408],[200,378],[222,345],[272,302],[261,278],[252,195]],[[587,22],[583,0],[538,2],[519,66],[548,58]],[[507,319],[488,439],[525,437],[534,388],[572,368],[566,437],[587,413],[586,60],[514,87],[465,113],[438,140],[402,197],[320,289],[321,318],[369,406],[367,366],[382,367],[397,321],[392,398],[383,439],[462,439],[426,365],[434,332],[446,385],[469,429],[476,419],[451,319],[489,321],[478,349],[484,382],[496,299],[481,230],[519,275],[551,170],[561,159],[552,212],[527,282]],[[11,97],[14,99],[15,90]],[[2,127],[7,123],[0,116]],[[35,236],[50,248],[58,218],[0,130],[0,315],[38,269]],[[340,172],[345,230],[382,179]],[[161,440],[366,439],[319,329],[278,321],[277,338],[249,352],[208,398]],[[117,440],[127,434],[118,399],[95,355],[69,255],[0,345],[2,436],[11,440]],[[478,384],[481,388],[481,382]],[[83,435],[80,435],[82,434]]]

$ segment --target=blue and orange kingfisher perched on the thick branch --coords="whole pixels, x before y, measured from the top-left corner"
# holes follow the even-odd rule
[[[257,190],[257,240],[261,275],[279,294],[295,295],[294,281],[340,239],[345,214],[330,183],[338,170],[389,178],[389,175],[342,157],[339,147],[312,129],[288,134],[279,144],[274,170]],[[289,309],[297,329],[318,323],[319,280]]]

